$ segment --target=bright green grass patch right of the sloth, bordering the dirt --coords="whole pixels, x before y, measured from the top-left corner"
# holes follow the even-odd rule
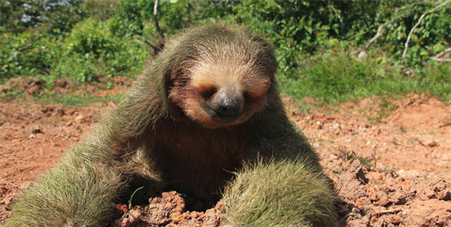
[[[319,104],[338,104],[363,97],[393,97],[411,92],[451,99],[451,64],[426,64],[406,74],[403,66],[372,51],[358,60],[345,47],[304,56],[298,75],[279,74],[281,92],[295,99],[313,97]],[[393,63],[392,63],[392,62]]]

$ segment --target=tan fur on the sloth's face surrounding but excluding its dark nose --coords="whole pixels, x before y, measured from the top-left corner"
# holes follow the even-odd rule
[[[187,117],[208,128],[232,126],[247,121],[265,108],[267,91],[271,86],[270,75],[265,75],[252,58],[231,48],[221,50],[223,53],[217,56],[210,53],[201,55],[201,60],[190,69],[190,82],[186,89],[188,92],[180,104]],[[243,98],[239,117],[236,119],[221,121],[208,113],[208,102],[222,89]]]

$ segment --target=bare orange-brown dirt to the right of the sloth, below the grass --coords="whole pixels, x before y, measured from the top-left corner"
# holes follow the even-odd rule
[[[342,226],[451,225],[449,104],[412,94],[319,110],[331,114],[290,115],[335,182]]]

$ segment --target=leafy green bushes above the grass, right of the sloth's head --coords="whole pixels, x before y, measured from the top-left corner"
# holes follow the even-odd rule
[[[408,52],[403,56],[410,29],[422,14],[445,1],[401,0],[245,0],[216,1],[219,8],[234,4],[233,19],[250,25],[278,46],[281,69],[292,76],[305,54],[327,47],[330,40],[348,40],[355,47],[373,43],[406,67],[421,71],[424,62],[450,47],[451,3],[426,14],[415,29]],[[226,17],[230,21],[230,17]]]

